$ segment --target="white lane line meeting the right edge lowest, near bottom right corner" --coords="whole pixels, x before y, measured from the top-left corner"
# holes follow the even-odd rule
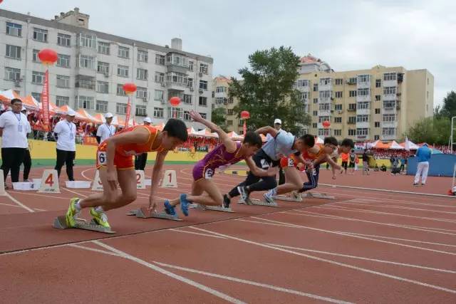
[[[372,271],[371,269],[361,268],[361,267],[353,266],[353,265],[346,264],[346,263],[340,263],[340,262],[328,260],[326,258],[319,258],[318,256],[311,256],[311,255],[306,254],[306,253],[300,253],[300,252],[296,252],[296,251],[291,251],[289,249],[278,248],[278,247],[266,245],[264,243],[258,243],[258,242],[255,242],[255,241],[249,241],[247,239],[241,239],[241,238],[237,238],[235,236],[229,236],[227,234],[219,234],[218,232],[214,232],[214,231],[210,231],[210,230],[206,230],[206,229],[202,229],[202,228],[198,228],[198,227],[191,227],[191,228],[199,230],[199,231],[204,231],[204,232],[209,233],[209,234],[215,234],[216,236],[224,236],[224,237],[226,237],[228,239],[234,239],[234,240],[241,241],[241,242],[244,242],[244,243],[249,243],[249,244],[252,244],[252,245],[261,246],[261,247],[264,247],[264,248],[270,248],[270,249],[273,249],[273,250],[276,250],[276,251],[282,251],[282,252],[286,252],[286,253],[291,253],[291,254],[294,254],[296,256],[304,256],[306,258],[311,258],[311,259],[316,260],[316,261],[326,262],[326,263],[330,263],[330,264],[333,264],[333,265],[337,265],[337,266],[341,266],[341,267],[345,267],[345,268],[350,268],[350,269],[353,269],[353,270],[356,270],[356,271],[362,271],[362,272],[365,272],[365,273],[371,273],[371,274],[374,274],[376,276],[383,276],[385,278],[391,278],[391,279],[396,280],[396,281],[412,283],[412,284],[415,284],[415,285],[420,285],[420,286],[424,286],[424,287],[427,287],[427,288],[432,288],[432,289],[435,289],[435,290],[442,290],[442,291],[445,291],[447,293],[456,294],[456,290],[453,290],[453,289],[450,289],[450,288],[445,288],[445,287],[438,286],[438,285],[432,285],[432,284],[428,284],[428,283],[424,283],[424,282],[420,282],[420,281],[410,280],[408,278],[403,278],[403,277],[400,277],[400,276],[393,276],[393,275],[390,275],[388,273],[381,273],[380,271]]]

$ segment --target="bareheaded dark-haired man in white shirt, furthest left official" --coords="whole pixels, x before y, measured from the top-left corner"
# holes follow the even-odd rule
[[[27,117],[21,113],[22,100],[11,100],[11,111],[0,115],[1,169],[4,179],[11,170],[11,182],[19,182],[19,167],[24,160],[27,144]]]

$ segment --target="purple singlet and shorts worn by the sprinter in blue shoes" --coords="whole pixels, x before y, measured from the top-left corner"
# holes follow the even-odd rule
[[[244,159],[244,157],[237,157],[241,149],[241,143],[236,142],[236,150],[232,153],[227,152],[224,145],[218,145],[211,152],[195,164],[193,167],[193,179],[211,179],[214,175],[215,169],[224,165],[236,164]]]

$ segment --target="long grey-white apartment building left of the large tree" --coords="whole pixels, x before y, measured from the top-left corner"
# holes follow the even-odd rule
[[[179,117],[191,123],[190,110],[210,119],[212,109],[212,63],[209,56],[182,51],[182,40],[171,46],[89,29],[89,15],[78,8],[52,20],[0,9],[0,89],[41,99],[45,68],[38,52],[51,48],[58,61],[50,70],[51,102],[83,108],[90,113],[125,115],[127,97],[123,84],[133,82],[132,113],[138,121],[150,116],[154,123]],[[167,102],[179,96],[172,108]]]

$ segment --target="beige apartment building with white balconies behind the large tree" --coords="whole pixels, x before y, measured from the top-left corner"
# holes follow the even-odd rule
[[[357,142],[398,140],[414,122],[433,114],[434,76],[426,69],[375,65],[336,72],[309,54],[301,58],[299,74],[296,89],[312,118],[306,132],[313,135]],[[228,85],[227,78],[214,78],[214,103],[227,107],[230,130],[240,132],[242,123],[229,111],[237,100],[229,100],[222,89]],[[323,127],[326,120],[331,122],[327,129]]]

